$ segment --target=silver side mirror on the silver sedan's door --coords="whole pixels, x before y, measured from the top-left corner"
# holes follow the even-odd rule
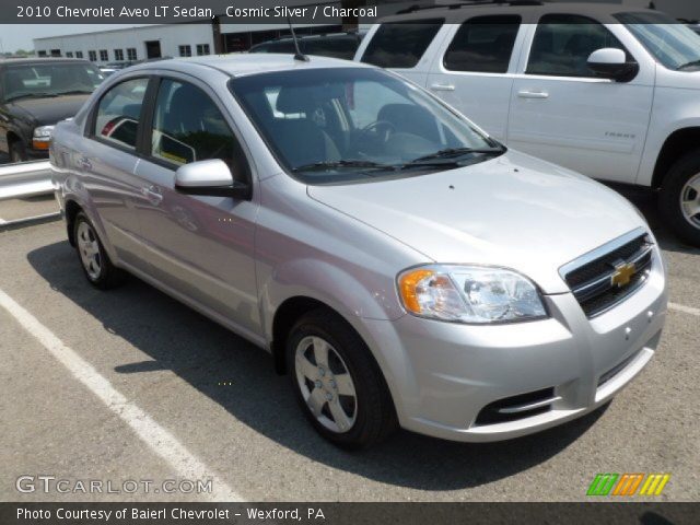
[[[234,180],[231,170],[220,159],[192,162],[175,172],[175,189],[187,195],[233,197],[247,200],[252,188],[248,183]]]

